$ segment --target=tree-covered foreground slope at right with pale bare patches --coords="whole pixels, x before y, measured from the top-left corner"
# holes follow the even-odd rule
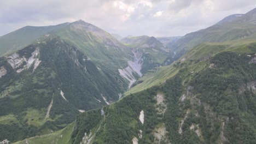
[[[103,109],[80,114],[69,143],[255,143],[256,47],[219,52]],[[253,52],[252,52],[253,51]]]

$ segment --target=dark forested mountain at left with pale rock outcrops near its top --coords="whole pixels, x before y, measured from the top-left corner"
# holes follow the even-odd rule
[[[0,68],[0,140],[11,142],[63,128],[79,111],[117,101],[125,90],[120,75],[51,35],[1,57]]]

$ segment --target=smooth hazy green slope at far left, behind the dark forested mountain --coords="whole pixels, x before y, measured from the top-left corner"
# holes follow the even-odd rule
[[[56,26],[43,27],[26,26],[9,34],[3,35],[2,37],[0,37],[0,56],[30,45],[39,37],[42,37],[46,33],[53,31],[53,29],[61,28],[66,25],[68,25],[68,23],[62,23]]]

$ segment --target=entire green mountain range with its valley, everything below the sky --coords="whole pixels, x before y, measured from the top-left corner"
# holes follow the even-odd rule
[[[78,20],[0,37],[0,143],[256,143],[256,9],[183,37]]]

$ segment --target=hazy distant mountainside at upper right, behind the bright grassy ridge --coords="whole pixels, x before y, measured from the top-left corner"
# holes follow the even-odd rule
[[[246,14],[235,14],[225,17],[223,20],[206,29],[201,29],[181,37],[176,43],[170,45],[177,53],[175,59],[181,57],[186,51],[194,46],[206,42],[224,42],[246,37],[255,38],[256,10]]]

